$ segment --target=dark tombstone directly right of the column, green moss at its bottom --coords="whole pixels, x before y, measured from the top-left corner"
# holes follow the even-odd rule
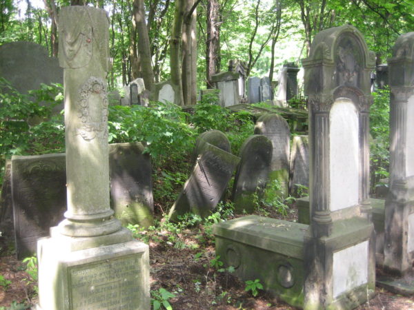
[[[111,207],[123,225],[153,225],[151,160],[143,152],[141,143],[109,146]]]

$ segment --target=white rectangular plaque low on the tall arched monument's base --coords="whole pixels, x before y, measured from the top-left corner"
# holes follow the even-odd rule
[[[368,240],[333,254],[333,297],[368,282]]]

